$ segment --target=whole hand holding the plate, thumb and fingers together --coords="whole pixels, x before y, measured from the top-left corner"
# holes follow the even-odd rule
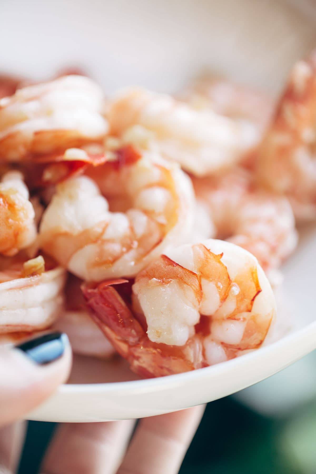
[[[37,346],[34,356],[50,358],[51,363],[36,365],[17,349],[0,351],[0,426],[6,425],[0,429],[1,473],[1,468],[4,473],[15,472],[25,432],[22,422],[8,423],[44,401],[69,374],[71,351],[65,337],[50,347],[46,343],[46,349]],[[62,424],[48,447],[41,473],[177,473],[203,411],[199,406],[142,419],[131,441],[135,420]]]

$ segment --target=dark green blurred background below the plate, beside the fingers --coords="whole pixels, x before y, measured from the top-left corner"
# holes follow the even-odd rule
[[[55,426],[29,423],[19,474],[38,472]],[[315,440],[316,402],[273,419],[227,397],[208,404],[180,474],[314,474]]]

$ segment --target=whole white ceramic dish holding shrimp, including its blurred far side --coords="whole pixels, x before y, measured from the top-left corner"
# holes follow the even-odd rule
[[[285,0],[2,2],[1,67],[45,78],[58,67],[83,65],[108,91],[131,83],[174,91],[208,68],[277,93],[291,64],[316,46],[316,9],[308,0],[299,5],[302,11]],[[124,362],[77,357],[70,384],[29,418],[157,415],[275,374],[316,348],[315,266],[316,228],[309,226],[284,268],[281,322],[285,332],[289,314],[295,324],[280,340],[271,334],[270,344],[246,356],[152,380],[137,380]]]

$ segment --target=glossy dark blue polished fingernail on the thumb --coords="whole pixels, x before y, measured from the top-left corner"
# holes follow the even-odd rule
[[[22,342],[22,344],[18,344],[15,348],[23,351],[36,364],[45,365],[59,359],[68,344],[69,341],[66,334],[52,332]]]

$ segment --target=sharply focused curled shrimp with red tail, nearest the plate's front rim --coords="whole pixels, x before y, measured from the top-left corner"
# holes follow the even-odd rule
[[[143,376],[240,356],[261,346],[275,315],[256,258],[220,240],[175,247],[149,264],[135,278],[134,314],[115,283],[87,284],[83,294],[92,319]]]

